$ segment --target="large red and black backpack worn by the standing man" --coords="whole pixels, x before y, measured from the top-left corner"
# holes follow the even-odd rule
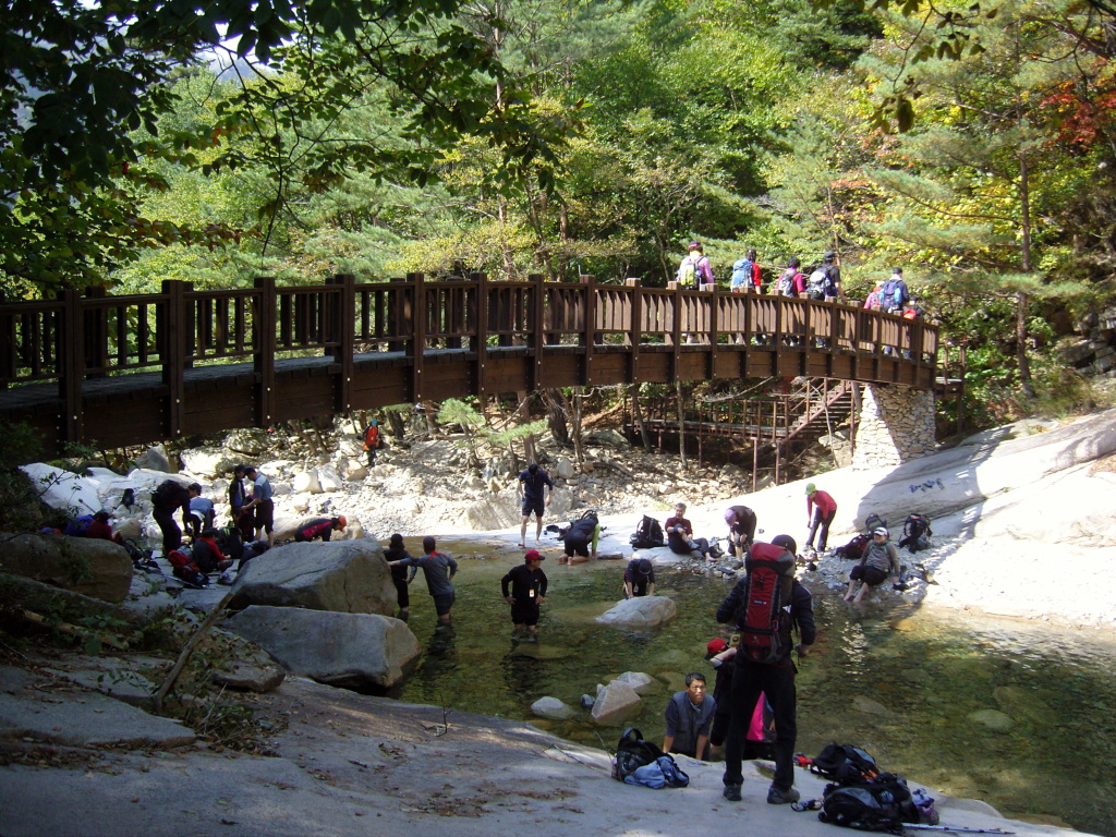
[[[737,609],[737,653],[753,663],[773,665],[790,652],[780,628],[785,608],[789,618],[795,556],[775,543],[753,543],[744,558],[744,571],[747,588]]]

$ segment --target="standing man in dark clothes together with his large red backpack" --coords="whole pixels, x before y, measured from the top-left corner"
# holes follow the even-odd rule
[[[798,547],[789,535],[770,543],[757,541],[744,560],[744,577],[716,608],[716,620],[735,623],[740,644],[730,692],[731,721],[724,742],[724,798],[740,801],[743,785],[741,761],[744,737],[760,693],[775,713],[775,780],[768,790],[770,805],[798,801],[795,790],[796,695],[795,663],[801,660],[817,635],[810,591],[795,579]],[[800,643],[793,645],[797,625]]]

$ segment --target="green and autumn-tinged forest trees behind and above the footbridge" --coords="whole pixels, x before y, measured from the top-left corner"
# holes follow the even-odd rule
[[[749,248],[768,280],[834,250],[854,298],[902,266],[978,393],[1033,400],[1066,389],[1051,347],[1113,296],[1116,19],[1081,0],[12,10],[9,298],[337,272],[662,286],[693,239],[727,283]]]

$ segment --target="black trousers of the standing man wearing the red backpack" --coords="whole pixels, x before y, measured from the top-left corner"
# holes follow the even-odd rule
[[[798,737],[795,666],[788,662],[787,665],[737,663],[733,667],[732,718],[724,740],[724,783],[743,783],[741,761],[744,739],[752,722],[756,701],[763,692],[775,713],[775,781],[771,785],[779,790],[790,790],[795,785],[795,740]]]

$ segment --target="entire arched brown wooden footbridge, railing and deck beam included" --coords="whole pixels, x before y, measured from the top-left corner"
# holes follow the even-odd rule
[[[55,453],[562,386],[805,375],[932,388],[937,350],[921,320],[635,279],[166,281],[0,305],[0,419],[29,422]]]

